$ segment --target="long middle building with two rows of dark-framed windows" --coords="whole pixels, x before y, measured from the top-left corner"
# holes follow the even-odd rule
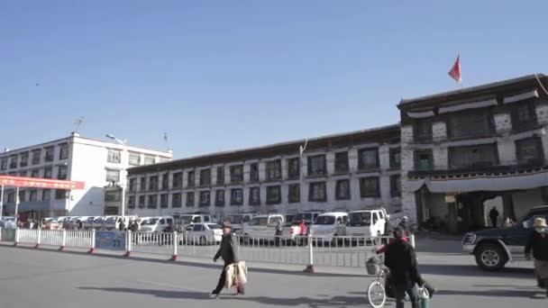
[[[127,213],[394,212],[401,209],[399,138],[399,125],[391,125],[130,168]]]

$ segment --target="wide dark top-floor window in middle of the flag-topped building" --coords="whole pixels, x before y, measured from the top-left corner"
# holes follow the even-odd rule
[[[447,135],[450,138],[486,137],[494,131],[492,116],[487,109],[452,113],[447,121]]]

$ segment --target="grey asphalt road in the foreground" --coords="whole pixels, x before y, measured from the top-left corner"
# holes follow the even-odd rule
[[[548,306],[548,299],[534,286],[530,265],[485,273],[473,265],[469,256],[456,251],[424,251],[418,258],[425,278],[439,289],[431,303],[434,307]],[[246,294],[235,296],[233,291],[225,291],[215,300],[209,293],[221,267],[205,260],[169,263],[0,246],[0,264],[2,308],[218,307],[220,304],[366,307],[365,290],[371,280],[361,275],[360,268],[341,270],[339,274],[305,275],[297,270],[250,264]],[[395,305],[388,302],[387,306]]]

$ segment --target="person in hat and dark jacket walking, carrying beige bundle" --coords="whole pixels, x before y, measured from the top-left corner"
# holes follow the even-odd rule
[[[217,262],[218,258],[223,258],[224,267],[219,277],[219,283],[213,292],[214,296],[218,296],[224,287],[224,281],[226,280],[225,269],[233,263],[238,263],[238,247],[236,246],[236,236],[231,230],[230,222],[223,222],[223,240],[221,240],[221,247],[213,258],[214,262]],[[244,294],[243,285],[237,285],[238,294]]]

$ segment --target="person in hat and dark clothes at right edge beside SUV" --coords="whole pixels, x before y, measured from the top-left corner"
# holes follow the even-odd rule
[[[546,289],[548,296],[548,225],[544,218],[534,219],[534,231],[531,232],[525,246],[527,259],[531,259],[531,250],[534,258],[534,276],[538,286]]]

